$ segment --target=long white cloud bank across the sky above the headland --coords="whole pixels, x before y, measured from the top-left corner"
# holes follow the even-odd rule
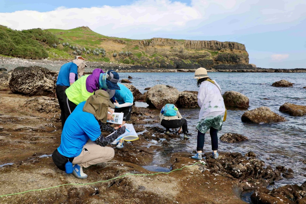
[[[267,32],[269,29],[282,30],[300,23],[306,16],[305,2],[192,0],[191,6],[188,6],[169,0],[148,0],[136,1],[127,6],[58,7],[48,12],[23,10],[0,13],[0,24],[17,30],[71,29],[84,25],[103,35],[134,39],[147,39],[156,35],[156,32],[159,35],[179,32],[188,37],[249,34]],[[290,25],[283,25],[284,22],[290,22]],[[273,26],[266,26],[263,30],[252,29],[264,25]]]

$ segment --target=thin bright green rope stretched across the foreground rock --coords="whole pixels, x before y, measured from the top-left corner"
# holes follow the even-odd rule
[[[152,175],[156,175],[156,174],[169,174],[171,172],[174,172],[174,171],[177,171],[177,170],[182,170],[186,167],[192,167],[196,164],[203,164],[205,165],[204,163],[202,162],[196,162],[194,163],[193,165],[191,166],[184,166],[182,167],[181,169],[174,169],[170,172],[157,172],[157,173],[153,173],[153,174],[134,174],[134,173],[127,173],[127,174],[124,174],[122,176],[118,176],[118,177],[115,177],[115,178],[112,178],[112,179],[109,179],[109,180],[104,180],[104,181],[97,181],[97,182],[93,182],[93,183],[86,183],[86,184],[62,184],[62,185],[59,185],[59,186],[53,186],[53,187],[50,187],[50,188],[42,188],[42,189],[33,189],[33,190],[28,190],[28,191],[24,191],[24,192],[20,192],[20,193],[12,193],[12,194],[7,194],[7,195],[0,195],[0,198],[1,197],[4,197],[4,196],[8,196],[8,195],[17,195],[17,194],[23,194],[23,193],[26,193],[26,192],[30,192],[30,191],[43,191],[43,190],[47,190],[47,189],[51,189],[51,188],[57,188],[57,187],[61,187],[61,186],[65,186],[65,185],[89,185],[89,184],[97,184],[97,183],[101,183],[101,182],[107,182],[107,181],[110,181],[110,180],[114,180],[114,179],[118,179],[118,178],[121,178],[121,177],[124,177],[124,176],[128,176],[128,175],[134,175],[134,176],[152,176]]]

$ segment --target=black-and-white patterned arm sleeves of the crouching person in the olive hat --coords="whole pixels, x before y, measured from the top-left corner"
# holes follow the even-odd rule
[[[101,130],[106,130],[110,132],[116,131],[114,132],[114,134],[111,134],[106,137],[104,137],[102,133],[100,134],[100,136],[95,140],[95,143],[97,143],[98,145],[102,147],[105,147],[106,145],[112,143],[119,135],[122,135],[125,132],[125,126],[118,128],[118,130],[115,130],[114,128],[102,123],[101,121],[99,121],[99,125],[100,125]]]

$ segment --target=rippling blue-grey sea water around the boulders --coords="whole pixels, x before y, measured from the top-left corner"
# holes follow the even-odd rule
[[[198,91],[196,80],[193,79],[193,72],[136,72],[119,73],[121,79],[132,76],[132,85],[144,93],[144,88],[156,84],[165,84],[176,87],[179,91]],[[235,73],[235,72],[209,72],[211,79],[217,81],[221,86],[222,94],[225,91],[238,91],[250,99],[252,110],[261,106],[269,107],[273,112],[285,117],[288,121],[274,124],[250,124],[241,121],[241,115],[245,110],[228,110],[227,119],[223,123],[221,135],[234,132],[248,137],[248,141],[240,143],[224,143],[219,140],[219,151],[240,152],[246,154],[254,151],[257,158],[263,160],[267,165],[275,168],[284,165],[292,168],[295,172],[293,179],[283,179],[275,182],[273,187],[285,184],[302,184],[306,174],[306,116],[292,117],[289,114],[281,113],[279,107],[285,102],[306,106],[306,73]],[[279,80],[288,80],[294,83],[293,87],[272,87],[272,83]],[[264,99],[264,98],[268,98]],[[146,106],[138,102],[136,106]],[[192,136],[190,143],[182,142],[182,139],[174,139],[169,147],[154,158],[154,165],[165,163],[173,152],[196,150],[196,123],[199,117],[200,108],[179,109],[183,117],[187,119],[189,133]],[[158,125],[158,124],[157,124]],[[154,141],[153,141],[154,142]],[[205,135],[204,151],[211,151],[211,139],[209,133]]]

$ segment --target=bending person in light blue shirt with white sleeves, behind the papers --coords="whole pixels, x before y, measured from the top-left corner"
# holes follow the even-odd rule
[[[116,90],[114,98],[116,106],[115,113],[123,113],[123,121],[122,124],[118,124],[118,126],[122,126],[126,121],[131,119],[132,106],[133,106],[133,93],[130,91],[125,85],[118,83],[120,90]],[[119,143],[116,147],[117,149],[123,148],[123,140],[119,140]]]

